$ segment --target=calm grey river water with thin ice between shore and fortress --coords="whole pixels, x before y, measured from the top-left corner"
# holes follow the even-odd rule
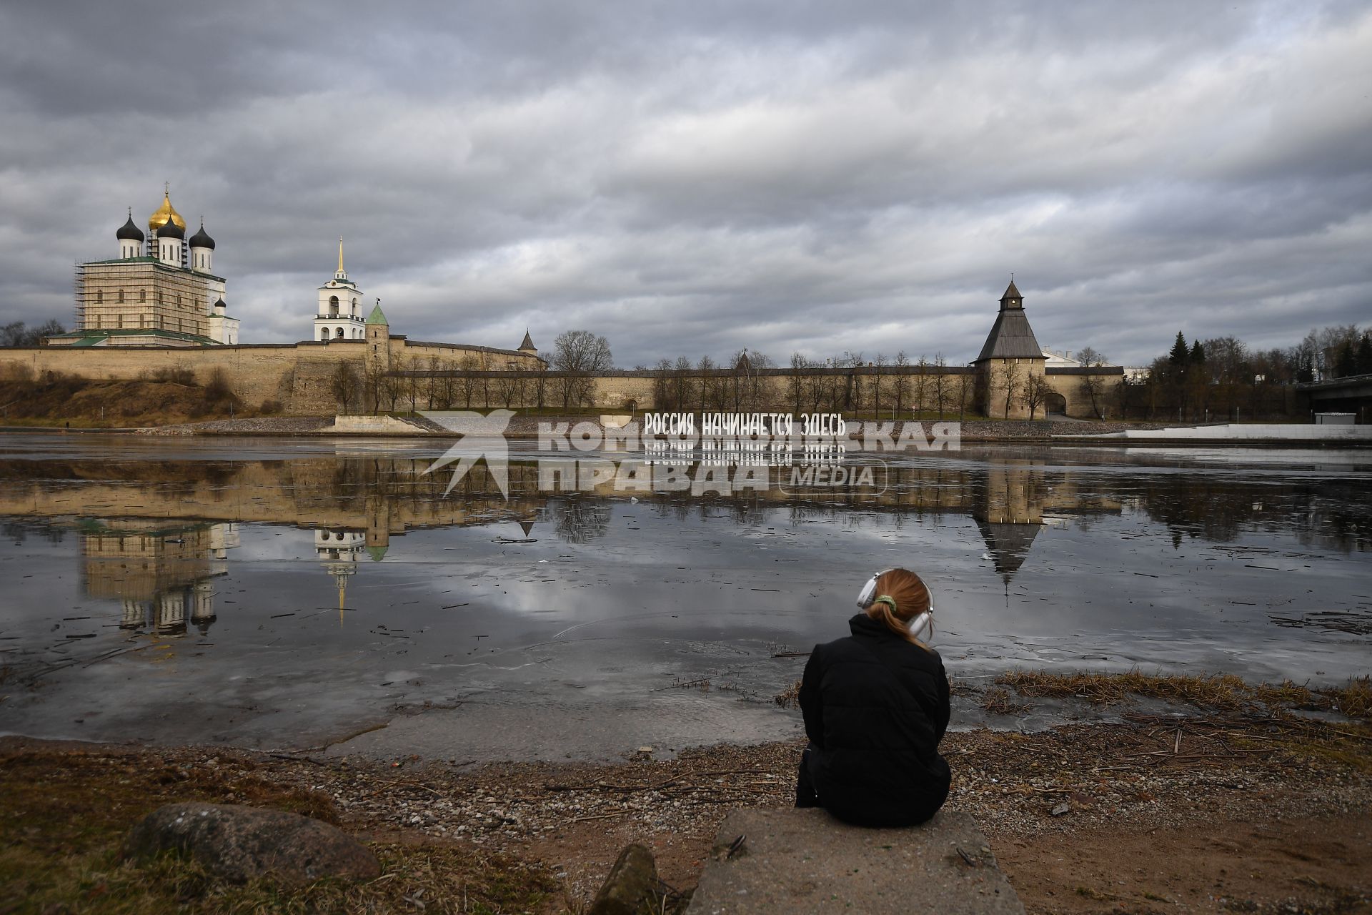
[[[460,760],[775,739],[796,654],[892,565],[933,584],[959,678],[1369,668],[1367,453],[965,449],[729,498],[550,492],[516,461],[506,499],[482,466],[445,497],[443,447],[0,436],[0,733]]]

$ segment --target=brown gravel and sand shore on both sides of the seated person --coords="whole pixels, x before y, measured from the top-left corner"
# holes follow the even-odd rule
[[[1135,715],[949,734],[943,749],[949,807],[982,826],[1030,912],[1372,911],[1365,723]],[[0,778],[10,842],[26,841],[15,830],[25,804],[41,804],[12,783],[33,771],[80,783],[92,804],[117,786],[137,790],[129,822],[170,800],[263,803],[270,789],[379,845],[502,855],[558,888],[541,911],[576,911],[631,841],[654,851],[665,882],[693,886],[729,809],[790,804],[799,752],[770,744],[616,765],[477,767],[4,738]],[[29,819],[41,830],[38,813]]]

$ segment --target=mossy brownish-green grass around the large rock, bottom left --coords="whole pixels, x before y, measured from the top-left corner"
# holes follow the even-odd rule
[[[520,912],[557,890],[541,867],[465,845],[373,844],[375,881],[229,885],[163,856],[121,861],[125,831],[162,804],[185,800],[291,809],[338,822],[332,801],[252,772],[188,774],[119,754],[48,750],[0,757],[0,912]]]

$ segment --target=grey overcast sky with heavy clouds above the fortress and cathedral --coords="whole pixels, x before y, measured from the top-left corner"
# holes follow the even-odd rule
[[[0,0],[0,322],[172,184],[247,343],[1137,364],[1372,320],[1368,3]]]

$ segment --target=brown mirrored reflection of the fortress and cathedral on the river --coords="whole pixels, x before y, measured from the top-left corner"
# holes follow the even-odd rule
[[[630,499],[611,486],[539,491],[536,466],[520,462],[509,466],[509,499],[480,465],[445,495],[447,477],[424,473],[428,464],[391,455],[144,462],[117,469],[95,461],[0,461],[5,471],[0,516],[43,517],[80,531],[84,590],[119,601],[123,628],[178,634],[189,624],[203,634],[215,619],[214,579],[226,573],[226,553],[239,545],[240,523],[309,532],[313,558],[328,576],[320,576],[321,590],[332,579],[342,616],[348,583],[366,561],[386,557],[392,536],[516,521],[528,538],[535,521],[546,521],[547,534],[565,543],[593,543],[613,528],[613,506]],[[852,512],[895,516],[897,524],[903,517],[970,516],[985,542],[986,561],[1008,586],[1044,527],[1087,525],[1092,517],[1131,510],[1166,524],[1176,539],[1225,542],[1243,530],[1290,530],[1295,523],[1303,542],[1318,539],[1345,551],[1369,549],[1367,520],[1350,513],[1358,495],[1345,499],[1339,483],[1332,486],[1314,494],[1299,483],[1210,479],[1200,484],[1146,473],[1121,486],[1089,466],[991,455],[890,466],[881,492],[830,487],[801,497],[763,490],[704,498],[638,492],[637,499],[661,516],[685,520],[723,512],[746,525],[768,513],[777,517],[775,512],[789,513],[793,523]],[[77,501],[81,516],[71,514]]]

